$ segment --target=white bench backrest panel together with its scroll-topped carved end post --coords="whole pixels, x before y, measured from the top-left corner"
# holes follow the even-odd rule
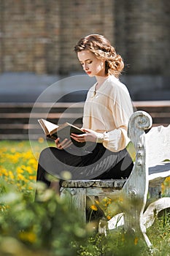
[[[128,206],[125,214],[125,226],[134,230],[143,229],[141,223],[147,201],[149,167],[158,165],[164,159],[170,159],[170,126],[150,129],[151,126],[152,118],[144,111],[136,111],[128,124],[128,137],[134,143],[136,160],[123,192],[126,197],[139,199],[138,206]],[[145,133],[146,129],[150,131]],[[159,169],[155,175],[160,175]]]

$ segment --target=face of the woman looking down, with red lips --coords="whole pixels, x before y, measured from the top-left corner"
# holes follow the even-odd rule
[[[82,50],[77,53],[82,68],[90,76],[106,76],[105,60],[97,59],[89,50]]]

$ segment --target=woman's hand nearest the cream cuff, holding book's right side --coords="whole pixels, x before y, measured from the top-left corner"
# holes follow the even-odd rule
[[[85,133],[82,135],[76,135],[75,133],[72,133],[70,137],[80,143],[85,141],[96,142],[96,132],[94,132],[92,129],[82,129],[82,131]]]

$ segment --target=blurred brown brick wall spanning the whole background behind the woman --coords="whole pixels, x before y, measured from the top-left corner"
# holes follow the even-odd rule
[[[0,0],[0,72],[81,70],[80,37],[104,34],[130,75],[169,75],[169,0]]]

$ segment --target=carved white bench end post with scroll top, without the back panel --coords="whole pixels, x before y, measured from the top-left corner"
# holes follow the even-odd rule
[[[136,111],[131,116],[128,123],[128,137],[134,143],[136,149],[136,160],[134,168],[128,181],[123,187],[125,198],[131,202],[131,199],[139,200],[138,205],[128,204],[125,214],[125,229],[129,227],[135,231],[141,231],[142,214],[147,201],[148,192],[148,168],[146,164],[146,147],[145,147],[145,129],[152,126],[152,118],[144,111]],[[132,200],[132,201],[134,201]]]

